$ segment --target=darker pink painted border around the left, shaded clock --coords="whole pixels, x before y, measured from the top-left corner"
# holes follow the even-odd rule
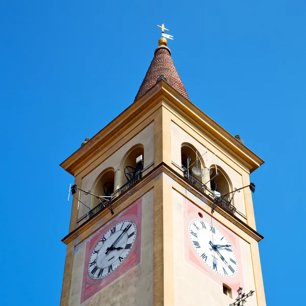
[[[106,225],[102,231],[93,236],[86,243],[86,253],[85,253],[85,263],[83,272],[83,284],[81,292],[81,303],[93,296],[99,290],[105,288],[111,284],[115,279],[124,274],[125,272],[131,270],[137,264],[140,263],[140,243],[141,243],[141,209],[142,209],[142,199],[138,199],[131,206],[129,206],[119,217],[114,218],[111,222]],[[126,257],[124,262],[110,275],[102,279],[92,279],[88,275],[87,264],[90,258],[90,254],[93,251],[97,241],[113,226],[114,223],[132,220],[137,226],[137,236],[135,243],[129,255]]]

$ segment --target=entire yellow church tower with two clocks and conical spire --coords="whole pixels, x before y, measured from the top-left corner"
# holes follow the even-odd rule
[[[228,306],[241,287],[266,305],[262,164],[191,103],[162,37],[134,103],[61,164],[75,185],[60,305]]]

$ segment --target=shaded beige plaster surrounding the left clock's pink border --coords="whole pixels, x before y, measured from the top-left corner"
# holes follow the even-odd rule
[[[154,189],[151,189],[142,196],[140,263],[123,275],[119,276],[111,284],[95,293],[92,297],[84,301],[82,305],[151,306],[153,304],[153,228]],[[96,226],[95,229],[98,230]],[[87,237],[81,243],[77,244],[72,250],[73,266],[69,306],[80,305],[86,242],[90,239],[90,237],[91,236]]]

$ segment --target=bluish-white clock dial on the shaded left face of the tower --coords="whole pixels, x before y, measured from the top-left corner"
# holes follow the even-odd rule
[[[137,235],[136,224],[124,220],[113,225],[93,249],[88,261],[88,274],[100,279],[111,274],[125,260],[133,248]]]

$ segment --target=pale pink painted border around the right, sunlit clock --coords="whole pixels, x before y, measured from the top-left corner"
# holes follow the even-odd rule
[[[198,213],[202,214],[202,218],[199,216]],[[203,219],[209,223],[211,223],[211,217],[208,215],[205,211],[201,210],[198,208],[196,205],[194,205],[191,201],[186,199],[184,197],[184,240],[185,240],[185,260],[200,270],[202,273],[205,273],[214,281],[218,284],[226,284],[231,287],[233,290],[233,294],[236,295],[236,292],[239,287],[244,287],[244,282],[243,282],[243,270],[242,270],[242,261],[241,261],[241,251],[240,251],[240,242],[239,242],[239,237],[234,234],[231,230],[229,230],[227,227],[225,227],[223,224],[221,224],[218,220],[213,218],[213,224],[216,225],[216,227],[221,230],[222,233],[226,235],[227,240],[231,243],[239,266],[238,266],[238,272],[234,277],[223,277],[217,273],[215,273],[213,270],[211,270],[205,263],[201,261],[199,258],[196,250],[194,249],[189,235],[188,235],[188,225],[189,222],[192,219]]]

